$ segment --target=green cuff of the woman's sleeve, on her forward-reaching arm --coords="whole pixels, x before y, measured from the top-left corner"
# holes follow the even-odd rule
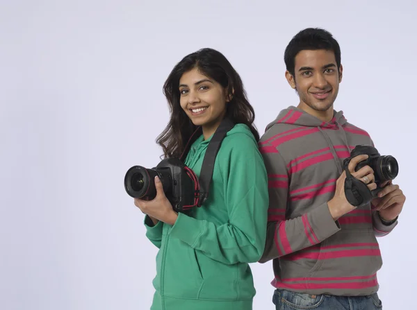
[[[172,229],[170,230],[170,236],[177,238],[194,248],[195,243],[197,243],[204,232],[205,226],[206,221],[199,221],[179,212],[177,221],[175,221],[174,226],[172,226]]]

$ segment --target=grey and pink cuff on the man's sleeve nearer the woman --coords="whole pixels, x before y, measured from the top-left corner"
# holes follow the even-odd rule
[[[327,203],[323,203],[316,209],[311,210],[308,214],[308,218],[313,233],[316,234],[319,242],[341,230],[341,225],[338,221],[334,221],[332,214],[330,214]]]

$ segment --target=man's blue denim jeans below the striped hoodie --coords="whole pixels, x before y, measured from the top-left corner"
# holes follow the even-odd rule
[[[375,310],[382,309],[377,293],[368,296],[309,295],[277,289],[272,298],[277,310],[330,309]]]

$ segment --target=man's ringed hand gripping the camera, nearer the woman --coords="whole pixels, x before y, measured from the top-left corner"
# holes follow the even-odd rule
[[[357,164],[359,164],[359,162],[363,160],[366,160],[367,158],[368,155],[359,155],[353,157],[352,160],[350,160],[347,169],[349,169],[350,173],[354,176],[354,178],[357,178],[361,180],[363,183],[367,184],[368,189],[372,191],[373,189],[377,188],[377,184],[375,184],[374,182],[375,175],[373,169],[370,168],[370,166],[363,166],[358,171],[354,171]],[[356,209],[356,207],[350,205],[350,203],[346,199],[345,179],[346,172],[343,171],[341,176],[336,181],[336,190],[334,192],[334,197],[327,203],[327,205],[329,206],[330,214],[332,214],[334,221],[336,221],[341,216],[351,212],[353,209]]]

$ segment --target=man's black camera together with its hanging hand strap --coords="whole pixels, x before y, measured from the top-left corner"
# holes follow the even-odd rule
[[[377,184],[377,188],[373,191],[368,189],[367,184],[354,178],[348,169],[350,160],[359,155],[368,155],[368,158],[359,162],[354,170],[358,171],[363,166],[370,166],[373,169],[375,184]],[[370,203],[370,200],[377,197],[377,193],[382,191],[381,184],[394,180],[398,175],[398,162],[395,160],[395,157],[391,155],[380,155],[378,150],[373,146],[356,146],[350,153],[350,157],[343,161],[343,168],[346,172],[345,196],[347,201],[355,207],[361,207]]]

